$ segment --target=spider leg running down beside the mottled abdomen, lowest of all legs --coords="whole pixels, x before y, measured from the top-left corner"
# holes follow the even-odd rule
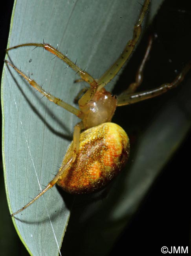
[[[70,165],[75,161],[78,149],[79,149],[79,136],[80,136],[80,131],[83,129],[83,122],[79,122],[74,126],[74,132],[73,132],[73,151],[70,156],[70,159],[67,161],[67,163],[64,166],[61,166],[59,169],[58,173],[55,175],[55,177],[48,183],[48,185],[43,189],[33,200],[31,200],[28,204],[23,206],[20,210],[15,211],[14,213],[11,214],[11,217],[14,215],[20,213],[21,211],[25,210],[28,206],[33,204],[39,197],[41,197],[48,189],[53,187],[59,178],[62,176],[64,171],[66,171],[68,168],[70,168]]]

